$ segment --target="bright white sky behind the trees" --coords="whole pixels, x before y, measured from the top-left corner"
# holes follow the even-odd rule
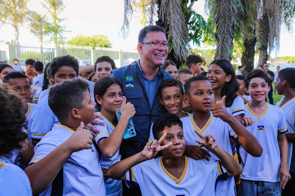
[[[40,5],[38,0],[30,0],[28,7],[37,11],[39,14],[46,14],[47,11]],[[64,0],[65,10],[60,14],[60,18],[67,18],[62,25],[71,32],[66,32],[65,37],[70,39],[78,34],[83,35],[104,35],[109,38],[112,47],[115,49],[135,49],[137,45],[137,36],[142,28],[140,25],[140,16],[134,13],[130,24],[130,33],[124,40],[118,33],[123,24],[123,0],[105,1],[105,0],[83,0],[71,1]],[[193,8],[204,18],[204,0],[194,3]],[[22,44],[39,45],[37,37],[34,37],[28,30],[29,24],[25,24],[19,31],[19,41]],[[294,25],[295,29],[295,25]],[[14,29],[10,25],[0,27],[0,40],[11,41],[14,39]],[[295,39],[282,28],[280,40],[279,56],[295,56],[293,49]],[[196,46],[193,46],[196,48]],[[202,47],[201,47],[202,49]],[[274,54],[272,55],[274,56]]]

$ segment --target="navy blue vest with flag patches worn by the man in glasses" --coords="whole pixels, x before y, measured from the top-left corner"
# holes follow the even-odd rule
[[[149,139],[151,124],[158,116],[167,113],[165,107],[161,105],[158,100],[158,88],[163,80],[172,78],[172,76],[160,68],[161,73],[157,76],[157,93],[155,95],[153,106],[150,107],[138,64],[139,61],[134,64],[115,69],[111,74],[112,77],[119,80],[122,84],[122,91],[123,95],[126,97],[126,102],[131,102],[134,105],[136,112],[134,117],[132,117],[136,136],[129,139],[123,139],[120,147],[122,159],[130,157],[144,148]]]

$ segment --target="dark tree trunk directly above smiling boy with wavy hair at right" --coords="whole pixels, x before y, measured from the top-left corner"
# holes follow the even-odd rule
[[[245,46],[245,52],[242,54],[241,63],[244,67],[243,74],[249,73],[254,68],[254,57],[255,57],[255,45],[257,39],[254,36],[253,38],[244,37],[243,44]]]

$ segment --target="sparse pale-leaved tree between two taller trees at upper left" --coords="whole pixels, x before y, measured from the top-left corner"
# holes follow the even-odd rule
[[[29,29],[32,34],[39,38],[39,42],[42,44],[44,36],[48,35],[49,32],[45,30],[45,26],[49,25],[46,15],[38,14],[35,11],[31,11],[27,16]]]

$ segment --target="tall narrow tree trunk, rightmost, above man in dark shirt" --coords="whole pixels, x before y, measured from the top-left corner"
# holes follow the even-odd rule
[[[265,0],[263,0],[263,7],[265,7]],[[269,36],[269,21],[267,16],[267,11],[263,8],[263,15],[262,19],[260,20],[260,32],[259,32],[259,39],[260,39],[260,48],[259,48],[259,60],[258,65],[263,65],[267,62],[268,54],[267,54],[267,47],[268,47],[268,36]]]

